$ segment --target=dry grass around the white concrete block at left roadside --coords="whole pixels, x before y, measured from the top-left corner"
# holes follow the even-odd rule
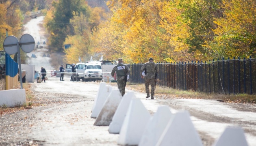
[[[31,84],[29,83],[23,83],[23,88],[25,89],[26,92],[26,104],[18,104],[15,105],[15,107],[7,107],[7,105],[0,105],[0,115],[3,114],[8,114],[8,113],[12,113],[12,112],[16,112],[16,111],[20,111],[20,110],[24,110],[24,109],[28,109],[28,108],[32,108],[33,107],[33,101],[35,100],[35,95],[33,94],[33,92],[30,90],[31,88]],[[1,88],[2,84],[0,84],[0,88]],[[4,84],[5,86],[5,84]],[[17,85],[17,87],[15,87],[17,89],[20,89],[20,83]]]

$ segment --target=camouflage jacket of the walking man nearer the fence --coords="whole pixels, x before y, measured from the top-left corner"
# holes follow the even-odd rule
[[[159,67],[156,63],[149,61],[141,67],[141,76],[143,71],[146,71],[146,78],[153,79],[155,78],[156,73],[159,72]]]

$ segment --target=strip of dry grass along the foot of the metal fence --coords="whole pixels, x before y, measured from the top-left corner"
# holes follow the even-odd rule
[[[127,89],[145,93],[144,84],[127,83]],[[151,87],[150,87],[151,90]],[[256,95],[248,94],[221,94],[204,93],[193,90],[178,90],[168,87],[156,86],[155,94],[157,99],[212,99],[228,103],[256,103]]]

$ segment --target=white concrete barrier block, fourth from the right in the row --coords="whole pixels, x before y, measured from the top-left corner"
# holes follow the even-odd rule
[[[150,120],[150,113],[140,99],[132,99],[117,144],[138,145],[141,135]]]

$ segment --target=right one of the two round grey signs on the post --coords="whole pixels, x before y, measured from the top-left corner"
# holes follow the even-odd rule
[[[35,40],[30,34],[23,34],[20,38],[20,47],[26,53],[29,53],[35,49]]]

